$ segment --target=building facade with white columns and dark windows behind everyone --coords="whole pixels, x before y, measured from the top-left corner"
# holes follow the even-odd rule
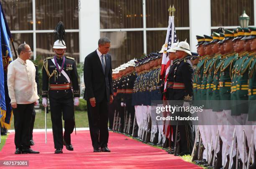
[[[34,59],[54,55],[53,30],[66,28],[67,55],[83,62],[97,40],[112,41],[113,68],[160,50],[168,26],[169,5],[176,8],[179,41],[187,39],[196,51],[195,35],[210,35],[219,27],[236,28],[246,10],[256,25],[256,0],[1,0],[15,47],[31,45]]]

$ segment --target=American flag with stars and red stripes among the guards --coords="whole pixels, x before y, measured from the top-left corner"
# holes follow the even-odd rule
[[[169,16],[169,26],[167,28],[167,34],[166,34],[166,40],[165,40],[165,44],[167,44],[167,49],[170,49],[171,45],[173,43],[176,43],[177,41],[178,41],[178,38],[177,38],[176,30],[174,27],[174,16]],[[168,77],[169,69],[171,66],[172,66],[172,61],[169,60],[167,53],[163,53],[161,77],[164,79],[164,92],[166,92],[167,77]],[[166,100],[166,98],[164,97],[163,100]],[[164,113],[164,116],[167,116],[166,112]],[[169,121],[164,121],[164,122],[165,124],[164,124],[163,132],[164,132],[164,135],[169,139],[171,127],[169,125]]]

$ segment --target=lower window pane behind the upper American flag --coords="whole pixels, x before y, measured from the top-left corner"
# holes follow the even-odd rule
[[[189,43],[189,30],[176,30],[179,41],[187,39]],[[166,30],[147,31],[147,53],[160,51],[166,38]]]

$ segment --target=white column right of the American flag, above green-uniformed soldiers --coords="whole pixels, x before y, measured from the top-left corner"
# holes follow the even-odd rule
[[[210,0],[189,0],[190,50],[196,52],[196,35],[211,33]]]

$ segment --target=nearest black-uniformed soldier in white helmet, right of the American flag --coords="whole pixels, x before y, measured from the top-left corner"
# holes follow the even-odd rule
[[[176,55],[177,58],[179,58],[179,61],[174,65],[174,84],[172,96],[170,98],[176,101],[183,100],[183,106],[189,106],[189,102],[192,101],[193,95],[193,68],[188,55],[191,56],[192,54],[190,52],[189,44],[186,41],[180,42],[174,50],[176,50]],[[179,112],[179,114],[182,115],[181,112]],[[187,113],[184,112],[183,115],[187,116]],[[178,145],[180,146],[180,152],[176,152],[175,155],[191,154],[194,135],[190,121],[184,121],[183,125],[178,125],[178,130],[180,142]]]

